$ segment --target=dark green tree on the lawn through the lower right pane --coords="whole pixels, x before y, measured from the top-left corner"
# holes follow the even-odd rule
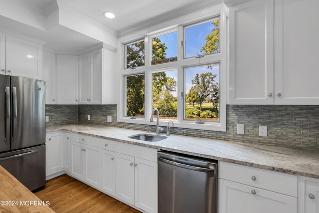
[[[193,89],[198,94],[199,110],[201,111],[201,105],[213,92],[215,85],[216,74],[211,72],[201,73],[200,75],[196,73],[195,78],[191,80],[193,84]]]

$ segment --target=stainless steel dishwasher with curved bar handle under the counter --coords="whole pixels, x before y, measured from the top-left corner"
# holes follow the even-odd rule
[[[158,153],[159,213],[217,213],[217,161]]]

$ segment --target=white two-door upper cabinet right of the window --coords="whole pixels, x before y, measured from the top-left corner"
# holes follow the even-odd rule
[[[228,104],[319,104],[318,7],[253,0],[229,8]]]

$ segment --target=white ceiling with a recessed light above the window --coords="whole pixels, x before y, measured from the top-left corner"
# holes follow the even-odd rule
[[[213,0],[57,0],[105,24],[119,34],[167,18],[176,13],[200,7]],[[110,11],[114,19],[103,13]]]

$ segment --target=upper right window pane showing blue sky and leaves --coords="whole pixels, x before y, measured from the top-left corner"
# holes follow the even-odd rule
[[[219,52],[219,18],[185,27],[185,58]]]

